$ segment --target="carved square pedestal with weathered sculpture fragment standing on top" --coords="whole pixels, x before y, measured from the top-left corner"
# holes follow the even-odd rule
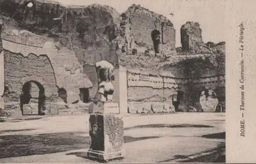
[[[109,161],[124,157],[123,120],[120,115],[122,104],[113,100],[116,90],[113,85],[114,66],[107,61],[100,61],[96,63],[96,72],[99,79],[98,101],[89,108],[91,146],[88,157]]]

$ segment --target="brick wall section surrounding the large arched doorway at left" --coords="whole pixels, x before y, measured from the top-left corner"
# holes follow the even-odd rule
[[[5,84],[12,88],[13,96],[20,95],[24,83],[29,80],[38,81],[45,88],[47,97],[57,96],[54,71],[47,56],[37,57],[35,54],[30,54],[24,57],[22,54],[6,50],[4,56]]]

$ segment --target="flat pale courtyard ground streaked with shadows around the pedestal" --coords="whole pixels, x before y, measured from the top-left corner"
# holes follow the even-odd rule
[[[223,113],[127,115],[123,120],[126,156],[110,162],[215,162],[225,151]],[[96,162],[86,154],[88,121],[89,115],[8,119],[0,123],[0,163]]]

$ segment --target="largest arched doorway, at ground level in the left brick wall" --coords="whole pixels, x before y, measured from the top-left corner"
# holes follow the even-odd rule
[[[20,95],[20,110],[22,115],[45,115],[45,89],[38,83],[38,81],[27,81],[22,87],[22,94]],[[37,105],[32,105],[37,104]],[[37,112],[25,111],[24,106],[28,107],[26,110],[33,110]]]

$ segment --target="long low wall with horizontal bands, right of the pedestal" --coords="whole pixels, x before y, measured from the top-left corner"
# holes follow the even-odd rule
[[[189,85],[193,88],[191,89]],[[225,89],[225,75],[194,79],[127,71],[127,100],[132,111],[137,107],[148,108],[148,104],[153,102],[157,103],[157,106],[164,103],[172,105],[172,95],[179,95],[179,110],[187,111],[189,105],[200,106],[200,94],[196,93],[201,93],[204,88],[218,90],[217,97],[222,99],[220,103],[225,103],[221,90],[221,88]]]

